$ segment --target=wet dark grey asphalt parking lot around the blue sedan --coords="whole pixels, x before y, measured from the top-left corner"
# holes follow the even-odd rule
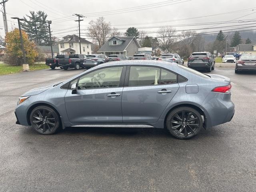
[[[190,140],[146,127],[73,127],[43,136],[15,124],[18,96],[82,71],[0,76],[0,191],[256,190],[256,73],[211,72],[231,78],[236,113]]]

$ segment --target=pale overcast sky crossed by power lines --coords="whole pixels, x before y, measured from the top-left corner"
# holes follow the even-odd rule
[[[46,12],[48,20],[52,20],[52,33],[58,38],[78,33],[78,22],[75,22],[76,17],[72,16],[75,13],[86,16],[81,22],[83,35],[88,32],[86,29],[90,20],[96,20],[99,16],[104,16],[105,20],[111,22],[120,32],[125,32],[126,28],[134,26],[154,37],[157,36],[153,33],[157,28],[145,27],[237,21],[231,24],[175,27],[176,30],[209,28],[197,32],[212,32],[220,30],[217,27],[221,26],[231,26],[222,30],[256,26],[256,22],[244,22],[256,20],[256,0],[8,0],[6,13],[9,30],[18,27],[17,21],[11,17],[22,18],[29,14],[30,10]],[[243,24],[247,25],[237,26]],[[2,14],[0,28],[3,28],[0,30],[0,35],[4,36]],[[256,27],[241,30],[248,29],[256,29]]]

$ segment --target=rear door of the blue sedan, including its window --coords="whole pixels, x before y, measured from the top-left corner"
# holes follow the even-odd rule
[[[158,67],[130,66],[126,78],[122,93],[124,123],[157,122],[179,89],[177,74]]]

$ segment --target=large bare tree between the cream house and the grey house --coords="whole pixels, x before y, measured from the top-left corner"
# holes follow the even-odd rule
[[[112,32],[111,23],[106,22],[104,17],[99,17],[96,21],[91,20],[89,22],[89,25],[90,26],[88,27],[88,36],[96,40],[99,47],[101,47],[109,38]]]

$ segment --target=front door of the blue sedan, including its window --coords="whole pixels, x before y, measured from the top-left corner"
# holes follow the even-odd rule
[[[94,70],[78,78],[78,90],[65,96],[68,118],[73,124],[122,123],[123,66]],[[74,83],[74,82],[72,82]]]

